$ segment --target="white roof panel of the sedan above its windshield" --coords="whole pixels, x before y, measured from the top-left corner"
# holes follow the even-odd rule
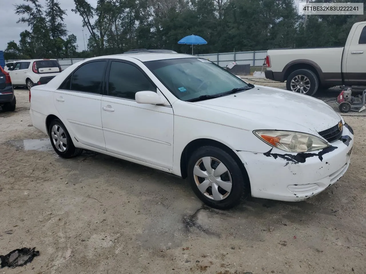
[[[149,52],[136,52],[136,53],[123,53],[104,56],[105,58],[117,58],[124,59],[123,57],[135,58],[141,62],[158,61],[158,60],[168,60],[168,59],[179,59],[179,58],[200,58],[197,56],[189,54],[180,53],[149,53]]]

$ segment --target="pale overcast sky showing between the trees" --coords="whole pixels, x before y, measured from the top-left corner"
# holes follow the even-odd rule
[[[93,7],[97,6],[97,0],[87,0]],[[298,1],[295,0],[297,4]],[[17,24],[19,17],[14,12],[15,4],[26,3],[24,0],[0,0],[1,4],[1,28],[0,28],[0,50],[5,50],[9,41],[14,40],[16,43],[19,42],[19,34],[25,30],[29,29],[27,24]],[[44,4],[45,0],[39,0],[40,4]],[[82,19],[79,15],[75,14],[71,11],[72,8],[75,7],[74,0],[59,0],[61,3],[60,6],[63,9],[67,9],[65,16],[65,23],[67,25],[68,34],[75,34],[78,43],[78,50],[84,50],[84,41],[83,41],[83,27],[82,27]],[[87,35],[86,38],[89,38],[89,31],[84,29],[84,36]],[[87,39],[85,39],[85,45],[87,46]]]

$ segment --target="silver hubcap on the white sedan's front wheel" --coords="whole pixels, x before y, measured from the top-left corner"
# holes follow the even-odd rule
[[[221,201],[228,197],[232,187],[231,175],[227,167],[214,157],[203,157],[193,169],[197,188],[206,197]]]

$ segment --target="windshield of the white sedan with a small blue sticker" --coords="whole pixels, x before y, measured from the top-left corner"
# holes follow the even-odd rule
[[[149,61],[144,64],[183,101],[206,100],[254,87],[202,58]]]

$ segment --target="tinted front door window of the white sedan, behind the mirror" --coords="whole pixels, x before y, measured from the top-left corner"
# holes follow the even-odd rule
[[[133,65],[112,62],[109,71],[108,95],[135,100],[138,91],[154,91],[156,87]]]

